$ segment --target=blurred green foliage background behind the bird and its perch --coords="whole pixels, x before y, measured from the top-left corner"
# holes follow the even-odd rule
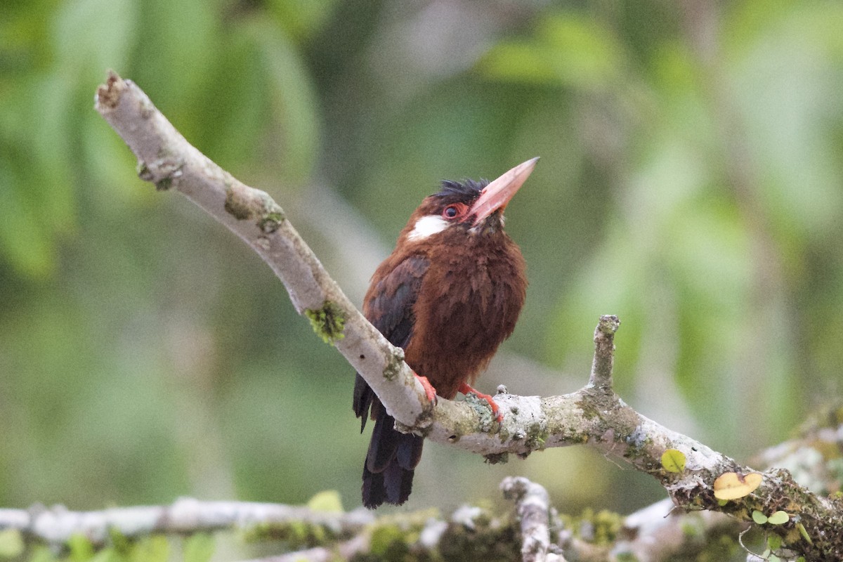
[[[113,68],[268,191],[359,303],[440,179],[541,162],[529,264],[479,387],[587,381],[599,315],[636,409],[749,460],[840,395],[843,3],[6,0],[0,505],[179,495],[359,506],[352,369],[238,239],[137,179],[92,109]],[[401,509],[663,496],[583,447],[489,466],[428,444]]]

